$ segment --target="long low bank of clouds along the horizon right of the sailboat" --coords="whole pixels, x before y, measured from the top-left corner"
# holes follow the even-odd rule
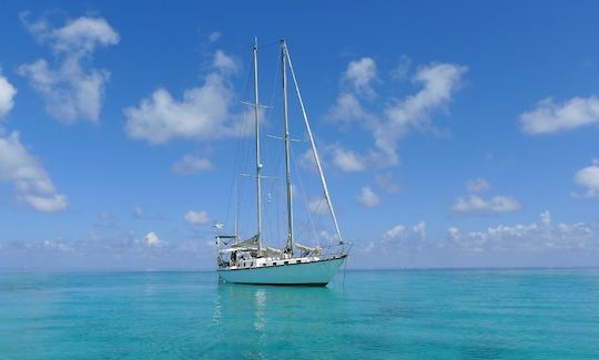
[[[473,256],[473,259],[501,259],[497,264],[506,265],[510,264],[511,257],[521,256],[525,251],[561,254],[562,250],[599,250],[598,235],[598,224],[555,223],[549,210],[545,210],[539,214],[538,222],[530,224],[500,224],[484,229],[449,226],[445,236],[429,238],[424,220],[417,222],[412,227],[397,224],[384,232],[379,240],[370,240],[362,248],[358,247],[358,251],[377,254],[377,257],[405,256],[404,261],[408,261],[417,254],[427,257],[440,255],[444,259],[448,259],[448,263],[444,264],[450,266],[455,266],[454,261],[457,259]],[[535,257],[527,255],[526,258],[527,261],[531,261],[529,264],[537,264]],[[405,263],[400,264],[405,266]]]

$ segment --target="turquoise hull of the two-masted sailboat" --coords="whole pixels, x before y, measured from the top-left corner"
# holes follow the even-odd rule
[[[253,268],[220,269],[226,282],[326,286],[345,263],[345,256],[312,263]]]

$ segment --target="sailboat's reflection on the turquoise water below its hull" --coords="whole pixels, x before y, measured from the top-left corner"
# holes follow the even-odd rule
[[[214,301],[215,333],[246,349],[266,349],[275,343],[296,347],[302,333],[319,332],[323,321],[333,313],[343,316],[338,313],[343,312],[339,291],[327,287],[221,284]],[[232,350],[231,354],[236,352]]]

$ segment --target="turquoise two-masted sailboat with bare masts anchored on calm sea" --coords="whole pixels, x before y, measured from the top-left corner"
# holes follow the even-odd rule
[[[261,161],[261,134],[260,134],[260,104],[258,99],[258,62],[257,40],[253,45],[253,78],[254,78],[254,132],[255,132],[255,192],[256,192],[256,234],[248,239],[242,240],[240,236],[220,234],[222,224],[216,225],[216,266],[219,279],[224,282],[255,284],[255,285],[300,285],[300,286],[326,286],[344,266],[352,245],[343,240],[337,216],[331,200],[327,183],[324,176],[318,151],[314,142],[314,135],[305,111],[304,101],[300,92],[297,79],[293,70],[292,60],[285,40],[281,40],[281,71],[283,80],[283,137],[285,150],[285,187],[286,187],[286,217],[287,234],[285,246],[274,248],[263,243],[262,219],[262,175],[263,164]],[[305,131],[314,154],[314,163],[319,176],[324,199],[332,216],[336,232],[336,244],[331,246],[306,246],[295,241],[294,233],[294,194],[291,174],[291,141],[287,102],[287,72],[291,73],[293,85]]]

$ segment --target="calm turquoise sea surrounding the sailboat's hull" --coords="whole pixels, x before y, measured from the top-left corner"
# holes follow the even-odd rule
[[[342,286],[344,285],[344,286]],[[0,272],[1,359],[598,359],[599,270]]]

